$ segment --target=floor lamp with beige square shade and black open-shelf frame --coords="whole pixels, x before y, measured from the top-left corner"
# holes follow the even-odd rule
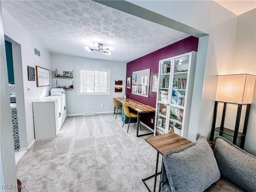
[[[223,134],[230,135],[233,137],[233,144],[237,145],[238,138],[241,138],[240,148],[244,148],[244,142],[246,137],[250,105],[252,102],[252,96],[254,92],[254,84],[255,84],[256,76],[250,74],[235,74],[235,75],[221,75],[218,77],[216,98],[215,98],[215,106],[214,106],[214,115],[212,122],[212,132],[210,136],[210,140],[214,140],[215,131],[219,132],[220,136]],[[237,106],[237,113],[235,126],[232,127],[230,123],[225,124],[225,126],[229,125],[230,127],[225,128],[224,122],[226,117],[226,111],[230,112],[228,115],[229,118],[232,118],[232,111],[234,111],[234,107]],[[217,125],[217,111],[219,108],[222,109],[222,119],[220,122],[220,126]],[[242,115],[242,118],[241,118]],[[219,115],[218,115],[219,116]],[[244,120],[243,127],[239,127],[240,119]],[[232,122],[231,119],[228,122]],[[218,124],[218,123],[217,123]],[[241,130],[241,131],[239,131]]]

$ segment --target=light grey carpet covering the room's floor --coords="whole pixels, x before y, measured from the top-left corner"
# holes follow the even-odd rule
[[[154,174],[157,152],[134,123],[128,134],[122,124],[120,115],[68,117],[56,139],[35,142],[16,165],[22,192],[147,192],[141,179]],[[154,178],[146,183],[153,190]]]

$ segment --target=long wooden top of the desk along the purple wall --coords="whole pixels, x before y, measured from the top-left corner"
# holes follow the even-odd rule
[[[156,111],[156,108],[150,105],[146,105],[129,98],[116,98],[116,100],[118,100],[121,103],[125,103],[128,107],[136,110],[139,113],[150,113]]]

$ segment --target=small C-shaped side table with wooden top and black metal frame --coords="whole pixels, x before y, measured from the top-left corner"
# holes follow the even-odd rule
[[[162,172],[162,170],[159,173],[157,172],[159,153],[161,155],[164,155],[164,153],[167,152],[168,150],[180,149],[180,148],[190,144],[191,142],[173,132],[154,136],[154,137],[148,137],[148,138],[145,138],[145,140],[146,140],[146,142],[148,142],[152,147],[154,147],[157,150],[156,172],[154,175],[149,176],[145,179],[142,179],[142,182],[144,183],[144,185],[146,186],[148,191],[151,192],[150,189],[148,188],[148,186],[146,185],[145,180],[155,177],[155,181],[154,181],[154,192],[155,192],[156,191],[156,177],[158,174],[160,174]]]

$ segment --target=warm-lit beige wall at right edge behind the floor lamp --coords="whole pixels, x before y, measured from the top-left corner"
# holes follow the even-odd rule
[[[220,74],[256,75],[256,9],[238,16],[232,62],[220,68]],[[256,84],[244,149],[256,155]]]

